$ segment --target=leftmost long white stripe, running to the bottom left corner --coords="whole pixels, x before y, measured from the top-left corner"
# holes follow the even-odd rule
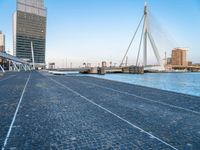
[[[3,144],[2,150],[4,150],[5,147],[6,147],[6,145],[7,145],[8,139],[9,139],[9,137],[10,137],[10,133],[11,133],[11,131],[12,131],[12,127],[13,127],[13,125],[14,125],[14,122],[15,122],[15,119],[16,119],[16,116],[17,116],[17,113],[18,113],[20,104],[21,104],[22,99],[23,99],[23,97],[24,97],[24,93],[25,93],[26,87],[27,87],[27,85],[28,85],[28,82],[29,82],[29,80],[30,80],[30,77],[31,77],[31,73],[29,74],[29,77],[28,77],[28,79],[27,79],[27,81],[26,81],[26,84],[25,84],[25,86],[24,86],[24,89],[23,89],[23,91],[22,91],[22,94],[21,94],[19,103],[18,103],[17,108],[16,108],[16,110],[15,110],[15,114],[14,114],[14,116],[13,116],[12,122],[11,122],[10,127],[9,127],[9,130],[8,130],[8,133],[7,133],[6,138],[5,138],[5,140],[4,140],[4,144]]]

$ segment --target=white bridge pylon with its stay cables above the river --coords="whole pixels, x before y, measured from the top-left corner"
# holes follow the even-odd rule
[[[158,49],[158,44],[156,43],[156,40],[152,34],[152,29],[155,28],[154,26],[152,26],[152,22],[151,22],[151,15],[150,12],[148,10],[148,6],[147,3],[145,2],[144,5],[144,13],[139,21],[139,24],[136,28],[136,31],[130,41],[130,44],[128,45],[128,48],[122,58],[122,61],[120,63],[120,67],[126,66],[127,65],[127,55],[128,52],[131,49],[132,45],[137,45],[136,44],[136,38],[137,35],[139,34],[139,29],[141,28],[141,34],[139,37],[139,46],[138,46],[138,51],[136,54],[136,62],[135,64],[133,64],[134,66],[143,66],[144,69],[155,69],[155,70],[164,70],[164,64],[162,62],[162,58]],[[134,43],[135,42],[135,43]],[[141,51],[143,49],[143,61],[142,63],[139,62],[140,57],[141,57]],[[156,65],[154,65],[154,67],[149,67],[148,64],[148,52],[150,52],[150,49],[153,50],[153,54],[156,58]],[[164,47],[162,47],[162,49],[166,49]],[[126,62],[125,62],[126,61]]]

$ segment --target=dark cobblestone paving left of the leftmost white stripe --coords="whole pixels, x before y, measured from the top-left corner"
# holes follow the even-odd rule
[[[0,147],[8,132],[26,78],[26,73],[7,73],[0,77]]]

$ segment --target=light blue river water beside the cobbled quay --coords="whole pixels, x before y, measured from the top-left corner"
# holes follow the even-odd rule
[[[200,96],[200,73],[106,74],[89,76]]]

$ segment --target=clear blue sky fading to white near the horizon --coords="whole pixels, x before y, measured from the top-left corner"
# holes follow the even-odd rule
[[[15,3],[0,0],[0,30],[6,34],[6,48],[10,51]],[[143,0],[45,0],[47,62],[64,66],[67,58],[68,65],[72,62],[74,66],[83,62],[97,65],[103,60],[119,64],[141,18],[143,5]],[[170,48],[188,47],[188,59],[200,62],[200,1],[148,0],[148,5],[153,14],[152,24],[156,25],[153,31],[162,33],[162,26],[164,37],[170,39]],[[162,57],[165,51],[170,56],[169,47],[160,44]],[[128,54],[129,63],[135,62],[136,51],[133,46]],[[149,53],[149,62],[153,63],[154,57]]]

